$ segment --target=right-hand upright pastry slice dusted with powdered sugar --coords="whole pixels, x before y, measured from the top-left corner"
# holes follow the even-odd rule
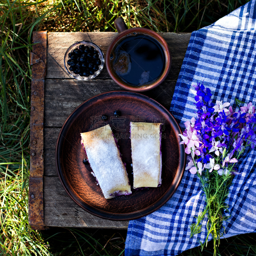
[[[158,187],[162,183],[161,126],[130,123],[133,188]]]

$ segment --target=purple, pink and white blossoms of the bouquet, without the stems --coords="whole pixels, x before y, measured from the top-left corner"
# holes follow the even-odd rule
[[[179,134],[182,138],[180,144],[186,145],[185,152],[191,154],[196,163],[195,166],[190,159],[186,170],[200,175],[203,175],[204,168],[209,172],[216,170],[219,175],[239,174],[235,164],[240,154],[236,153],[236,157],[233,154],[240,153],[248,145],[255,147],[256,109],[251,102],[237,112],[229,102],[216,100],[214,105],[212,93],[203,83],[194,85],[196,118],[185,122],[186,130]],[[231,165],[232,171],[228,171]]]

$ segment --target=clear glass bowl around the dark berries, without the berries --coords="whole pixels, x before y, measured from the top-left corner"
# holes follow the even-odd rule
[[[84,45],[84,46],[88,46],[88,47],[93,47],[95,50],[98,51],[99,53],[99,58],[100,58],[100,61],[101,61],[101,64],[99,65],[99,69],[92,75],[90,76],[80,76],[79,74],[75,74],[73,71],[70,71],[69,70],[69,65],[68,65],[68,60],[70,59],[70,57],[68,57],[68,53],[69,52],[73,52],[76,48],[78,48],[79,45]],[[103,52],[101,51],[100,47],[97,45],[97,44],[94,44],[92,42],[87,42],[87,41],[80,41],[80,42],[76,42],[75,44],[72,44],[71,46],[69,46],[67,52],[65,53],[65,56],[64,56],[64,66],[65,66],[65,69],[66,71],[68,72],[68,74],[78,80],[90,80],[96,76],[98,76],[101,72],[101,70],[103,69],[103,66],[104,66],[104,54]]]

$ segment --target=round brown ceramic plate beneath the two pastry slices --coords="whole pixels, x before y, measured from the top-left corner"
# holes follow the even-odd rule
[[[114,111],[121,111],[120,117]],[[101,115],[107,115],[103,121]],[[89,165],[83,164],[84,150],[80,143],[81,132],[110,124],[118,140],[132,183],[131,121],[163,122],[162,185],[157,188],[132,190],[129,196],[105,199],[97,186]],[[104,122],[104,123],[103,123]],[[56,146],[56,166],[60,181],[68,195],[82,207],[98,217],[108,220],[133,220],[156,211],[174,194],[185,169],[185,148],[179,142],[180,127],[170,112],[151,98],[127,91],[99,94],[86,100],[64,123]]]

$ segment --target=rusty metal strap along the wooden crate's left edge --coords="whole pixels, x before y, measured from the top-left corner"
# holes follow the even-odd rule
[[[44,76],[46,73],[47,31],[33,32],[31,113],[30,113],[30,176],[28,221],[32,229],[44,229]]]

